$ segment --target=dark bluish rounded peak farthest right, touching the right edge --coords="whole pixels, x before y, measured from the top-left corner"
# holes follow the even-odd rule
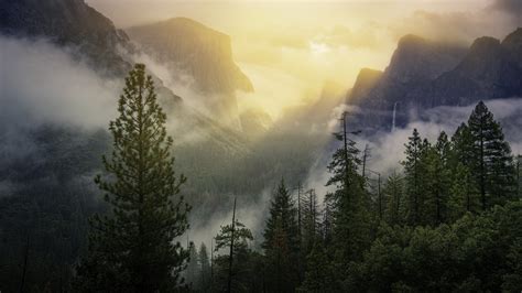
[[[493,37],[479,37],[463,61],[407,98],[418,107],[465,106],[522,95],[522,68],[515,54]]]

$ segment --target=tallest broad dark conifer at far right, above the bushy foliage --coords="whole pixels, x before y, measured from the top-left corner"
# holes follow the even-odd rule
[[[478,184],[482,210],[486,210],[513,197],[514,164],[502,128],[482,101],[471,112],[468,127],[474,143],[469,165]]]

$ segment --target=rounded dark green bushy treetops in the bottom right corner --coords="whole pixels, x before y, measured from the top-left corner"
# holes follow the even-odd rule
[[[354,267],[354,291],[511,292],[522,289],[520,237],[522,203],[497,206],[481,216],[429,227],[381,226],[377,239]]]

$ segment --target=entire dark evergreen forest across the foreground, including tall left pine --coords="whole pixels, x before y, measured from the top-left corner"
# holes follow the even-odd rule
[[[95,177],[107,208],[89,224],[66,208],[59,218],[41,217],[50,223],[13,223],[13,229],[32,231],[2,253],[17,262],[0,268],[7,292],[522,290],[522,159],[511,153],[483,102],[453,135],[442,131],[428,141],[414,130],[404,144],[405,160],[391,174],[367,167],[367,150],[350,138],[345,113],[324,182],[333,192],[319,195],[289,186],[295,178],[281,178],[257,239],[260,248],[252,245],[251,229],[258,227],[237,217],[241,200],[235,200],[230,223],[213,242],[182,245],[191,213],[182,196],[186,178],[174,172],[167,118],[143,65],[127,77],[118,111],[109,128],[112,152],[102,158],[106,172]],[[96,141],[93,148],[102,149]],[[64,194],[72,192],[81,191],[63,187]],[[19,208],[44,214],[67,205],[36,197]],[[13,209],[4,205],[0,214]],[[53,245],[63,243],[51,239],[53,231],[39,230],[53,223],[67,247]],[[45,247],[61,251],[44,260],[55,268],[28,265],[30,250],[44,247],[31,239],[35,234],[50,236]],[[9,258],[20,251],[21,261]]]

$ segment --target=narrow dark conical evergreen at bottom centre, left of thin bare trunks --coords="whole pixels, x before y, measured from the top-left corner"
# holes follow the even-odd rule
[[[298,284],[300,273],[291,267],[300,260],[297,209],[284,181],[273,195],[264,229],[262,248],[267,258],[267,282],[271,292],[292,292]]]

